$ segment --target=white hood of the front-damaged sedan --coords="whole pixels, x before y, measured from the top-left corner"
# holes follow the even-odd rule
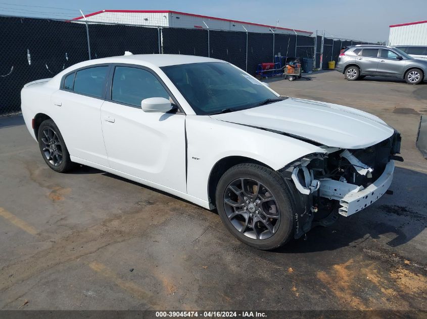
[[[393,127],[372,114],[296,98],[211,117],[345,149],[369,147],[394,133]]]

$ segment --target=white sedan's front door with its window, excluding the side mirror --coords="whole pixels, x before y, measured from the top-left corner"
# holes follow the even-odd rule
[[[171,96],[151,70],[116,65],[101,108],[110,167],[186,193],[185,114],[144,112],[141,101]]]

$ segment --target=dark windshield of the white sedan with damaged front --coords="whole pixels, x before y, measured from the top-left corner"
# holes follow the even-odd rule
[[[161,69],[198,115],[238,111],[279,98],[229,63],[191,63]]]

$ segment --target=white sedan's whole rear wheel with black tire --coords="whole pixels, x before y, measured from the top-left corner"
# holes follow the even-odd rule
[[[64,173],[73,168],[70,154],[58,126],[52,119],[41,122],[37,132],[38,146],[41,156],[50,168]]]

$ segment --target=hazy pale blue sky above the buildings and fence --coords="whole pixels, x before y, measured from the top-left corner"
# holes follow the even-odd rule
[[[48,8],[49,7],[49,8]],[[0,0],[0,14],[70,19],[99,10],[173,10],[316,32],[387,41],[389,25],[427,20],[427,0]]]

